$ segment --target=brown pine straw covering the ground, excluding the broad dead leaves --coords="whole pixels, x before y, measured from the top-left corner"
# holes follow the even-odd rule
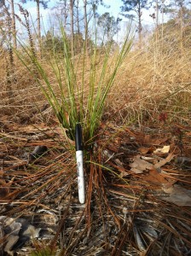
[[[9,193],[1,199],[1,215],[27,218],[35,226],[49,228],[50,233],[38,243],[31,241],[18,255],[29,255],[32,248],[39,251],[48,245],[57,255],[189,255],[190,208],[163,201],[161,183],[147,180],[147,172],[130,172],[129,166],[130,160],[140,154],[138,148],[153,147],[153,139],[159,134],[160,138],[168,137],[176,157],[181,152],[188,156],[188,127],[182,127],[188,134],[182,139],[182,152],[170,130],[146,127],[138,131],[102,125],[95,154],[85,166],[87,197],[85,206],[81,206],[74,153],[64,149],[56,126],[7,124],[1,134],[1,148]],[[27,164],[23,155],[32,152],[35,145],[46,145],[49,153]],[[106,150],[113,157],[108,158]],[[190,188],[186,167],[175,160],[163,168],[168,177]]]

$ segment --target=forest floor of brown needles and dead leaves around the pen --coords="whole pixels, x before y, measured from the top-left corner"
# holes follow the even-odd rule
[[[0,255],[191,255],[191,122],[97,134],[80,205],[58,125],[1,119]]]

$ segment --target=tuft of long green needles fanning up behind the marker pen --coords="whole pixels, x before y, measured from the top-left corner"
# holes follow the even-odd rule
[[[54,32],[48,36],[50,49],[48,54],[43,49],[43,58],[33,55],[32,49],[22,42],[21,53],[16,54],[37,79],[66,136],[73,140],[75,125],[80,123],[84,144],[88,146],[94,141],[107,95],[133,38],[129,30],[124,44],[114,51],[113,43],[98,46],[91,41],[89,49],[83,44],[81,53],[73,56],[70,38],[61,23],[59,37]]]

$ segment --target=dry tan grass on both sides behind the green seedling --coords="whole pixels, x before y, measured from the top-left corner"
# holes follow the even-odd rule
[[[174,35],[177,37],[177,34]],[[167,37],[167,36],[166,36]],[[107,98],[105,116],[111,121],[120,124],[128,124],[133,121],[141,122],[143,119],[156,120],[159,113],[168,113],[170,119],[180,121],[190,117],[190,82],[191,82],[191,50],[180,49],[180,44],[174,45],[168,38],[149,38],[142,49],[131,50],[124,64],[119,70],[113,89]],[[170,37],[170,36],[169,36]],[[172,38],[172,35],[171,35]],[[82,60],[77,60],[77,81],[83,70]],[[45,99],[38,88],[32,75],[20,61],[15,63],[15,79],[12,84],[13,94],[11,99],[6,92],[6,61],[3,56],[1,62],[1,115],[8,114],[14,119],[26,119],[30,116],[34,122],[42,117],[37,113],[46,106]],[[89,81],[90,65],[85,70],[84,79]],[[97,74],[99,76],[99,65],[101,57],[97,61]],[[52,75],[49,61],[44,60],[47,74],[51,78],[53,86],[56,85]],[[112,65],[112,64],[111,64]],[[84,96],[87,95],[84,89]],[[37,108],[38,106],[38,108]],[[49,111],[46,111],[46,113]],[[49,114],[46,114],[49,118]],[[36,119],[37,118],[37,119]]]

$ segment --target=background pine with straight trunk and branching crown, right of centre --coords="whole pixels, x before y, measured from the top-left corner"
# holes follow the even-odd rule
[[[124,3],[121,6],[122,14],[126,18],[134,19],[137,17],[138,19],[138,35],[139,42],[142,39],[142,9],[148,9],[148,0],[122,0]],[[135,13],[135,15],[133,14]]]

